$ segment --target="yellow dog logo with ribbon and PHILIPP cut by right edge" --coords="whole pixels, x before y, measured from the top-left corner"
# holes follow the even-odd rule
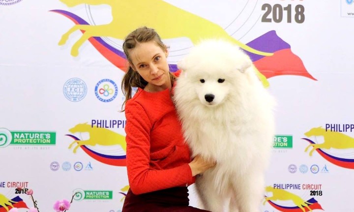
[[[332,164],[354,169],[354,138],[344,134],[352,130],[354,130],[354,124],[326,124],[325,128],[314,127],[305,133],[308,138],[302,138],[309,142],[305,152],[309,151],[309,156],[312,156],[314,151],[317,151]]]

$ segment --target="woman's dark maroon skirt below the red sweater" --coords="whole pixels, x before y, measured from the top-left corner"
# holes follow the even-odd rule
[[[188,205],[187,187],[173,187],[139,195],[129,189],[122,212],[208,212]]]

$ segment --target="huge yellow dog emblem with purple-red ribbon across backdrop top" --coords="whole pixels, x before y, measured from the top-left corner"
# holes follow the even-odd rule
[[[164,39],[186,37],[193,44],[200,39],[222,38],[244,49],[260,71],[258,73],[265,87],[269,86],[268,78],[279,75],[298,75],[316,80],[309,74],[301,61],[292,50],[290,44],[282,40],[275,30],[270,30],[244,44],[228,34],[221,26],[178,8],[163,0],[60,0],[67,7],[80,4],[108,4],[112,10],[112,22],[104,25],[89,25],[81,17],[65,10],[52,10],[74,22],[74,26],[62,34],[59,45],[66,45],[71,33],[80,30],[82,36],[71,47],[71,55],[80,54],[80,47],[89,42],[107,60],[121,70],[126,70],[124,53],[108,44],[102,37],[124,39],[130,31],[141,27],[142,24],[157,30]],[[210,2],[217,3],[217,2]],[[149,12],[140,12],[140,11]],[[140,15],[134,15],[134,14]],[[166,27],[169,23],[169,27]],[[170,64],[172,72],[177,71],[176,64]]]

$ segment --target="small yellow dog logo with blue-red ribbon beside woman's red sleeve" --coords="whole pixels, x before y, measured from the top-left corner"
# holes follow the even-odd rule
[[[102,123],[104,125],[98,125],[96,120],[92,120],[91,124],[79,123],[70,128],[69,132],[72,134],[67,134],[67,136],[74,141],[68,149],[76,153],[78,148],[81,148],[97,161],[113,166],[126,166],[125,137],[106,128],[107,126],[117,127],[118,123],[114,124],[114,121]]]

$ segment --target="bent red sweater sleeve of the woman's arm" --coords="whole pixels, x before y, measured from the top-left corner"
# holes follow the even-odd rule
[[[130,189],[134,194],[192,184],[190,166],[185,163],[166,170],[150,169],[150,129],[152,123],[142,105],[127,102],[125,107],[127,123],[126,163]]]

